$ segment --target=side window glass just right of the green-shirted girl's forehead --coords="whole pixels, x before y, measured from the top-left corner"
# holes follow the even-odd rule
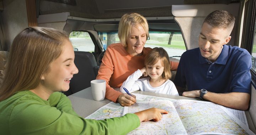
[[[88,32],[73,31],[69,39],[75,51],[94,52],[95,45]]]

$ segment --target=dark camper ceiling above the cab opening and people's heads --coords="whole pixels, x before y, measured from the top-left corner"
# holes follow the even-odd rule
[[[172,5],[183,4],[216,4],[236,2],[237,0],[147,0],[145,1],[120,1],[120,0],[73,0],[76,5],[63,4],[62,0],[40,0],[37,8],[39,15],[69,12],[70,16],[109,19],[121,18],[124,13],[137,12],[144,17],[168,17],[172,16]],[[71,0],[70,0],[71,1]],[[239,2],[239,1],[238,1]]]

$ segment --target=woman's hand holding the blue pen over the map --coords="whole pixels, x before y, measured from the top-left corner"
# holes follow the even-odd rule
[[[134,104],[135,102],[137,102],[136,100],[136,96],[132,95],[128,95],[128,94],[121,94],[118,98],[117,98],[117,102],[121,105],[121,106],[131,106],[132,104]]]

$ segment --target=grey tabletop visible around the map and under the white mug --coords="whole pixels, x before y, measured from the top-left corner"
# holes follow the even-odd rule
[[[116,88],[116,90],[119,90],[119,88]],[[166,94],[145,92],[145,91],[135,91],[133,93],[149,95],[149,96],[156,96],[156,97],[172,98],[172,99],[200,100],[198,98],[173,96],[173,95],[166,95]],[[101,108],[102,106],[105,106],[106,104],[111,102],[108,99],[104,99],[103,101],[94,101],[94,99],[92,98],[91,87],[88,87],[84,90],[76,92],[72,95],[69,95],[68,98],[70,99],[75,112],[84,118],[87,117],[88,115],[92,114],[97,109]],[[245,111],[245,114],[246,114],[246,118],[247,118],[250,130],[252,130],[252,132],[256,133],[256,129],[252,122],[249,111]]]

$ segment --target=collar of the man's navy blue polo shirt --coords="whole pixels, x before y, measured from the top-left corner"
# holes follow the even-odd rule
[[[217,58],[217,60],[214,63],[225,65],[226,61],[228,60],[228,52],[229,52],[228,45],[224,44],[223,48],[222,48],[222,52],[220,53],[219,57]],[[198,49],[198,55],[199,55],[199,63],[200,64],[209,62],[206,58],[204,58],[201,55],[200,49]]]

